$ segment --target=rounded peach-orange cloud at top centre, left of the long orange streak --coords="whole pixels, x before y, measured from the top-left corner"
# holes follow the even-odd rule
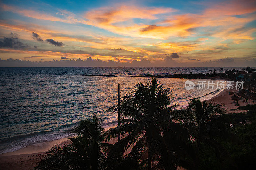
[[[140,29],[145,28],[144,24],[135,24],[132,19],[140,18],[144,20],[158,19],[156,14],[166,14],[175,12],[172,8],[148,8],[121,5],[117,7],[104,7],[87,12],[84,17],[88,20],[88,25],[97,26],[111,32],[122,35],[138,36]],[[156,38],[156,37],[152,37]]]

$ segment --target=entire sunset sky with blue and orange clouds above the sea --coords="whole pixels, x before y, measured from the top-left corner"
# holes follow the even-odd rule
[[[255,67],[255,19],[255,0],[0,1],[0,61]]]

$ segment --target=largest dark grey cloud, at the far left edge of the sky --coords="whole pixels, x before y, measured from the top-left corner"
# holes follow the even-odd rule
[[[12,33],[11,33],[12,34]],[[26,48],[29,47],[27,44],[22,43],[18,40],[18,37],[4,37],[0,39],[0,48],[7,47],[7,48]]]

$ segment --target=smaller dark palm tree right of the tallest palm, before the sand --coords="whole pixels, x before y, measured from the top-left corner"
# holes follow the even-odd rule
[[[225,124],[221,117],[224,113],[225,109],[222,104],[201,101],[201,99],[193,99],[187,109],[176,111],[179,121],[195,128],[193,136],[196,146],[201,148],[204,143],[212,147],[220,161],[223,161],[224,156],[228,158],[229,155],[216,139],[228,139],[231,135],[233,136],[228,124]],[[220,116],[216,117],[217,115]]]

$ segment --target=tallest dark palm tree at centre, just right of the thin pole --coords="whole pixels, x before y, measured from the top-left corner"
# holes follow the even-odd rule
[[[185,155],[193,155],[195,159],[188,126],[172,121],[176,105],[171,106],[170,99],[171,89],[163,89],[156,78],[145,85],[137,83],[135,90],[121,101],[120,112],[124,118],[120,126],[110,131],[107,140],[117,138],[118,134],[123,136],[113,148],[122,155],[132,147],[128,158],[138,160],[148,170],[152,162],[157,168],[175,169],[181,166]],[[117,110],[118,106],[113,106],[107,111]]]

